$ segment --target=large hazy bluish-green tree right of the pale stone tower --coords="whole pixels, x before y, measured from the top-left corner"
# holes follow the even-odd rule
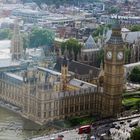
[[[51,30],[35,27],[29,34],[29,47],[43,47],[46,55],[48,49],[51,49],[54,42],[54,33]]]

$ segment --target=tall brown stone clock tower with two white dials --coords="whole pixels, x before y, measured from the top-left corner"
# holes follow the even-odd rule
[[[112,117],[121,111],[124,77],[124,43],[118,21],[112,26],[112,35],[104,52],[104,94],[101,115]]]

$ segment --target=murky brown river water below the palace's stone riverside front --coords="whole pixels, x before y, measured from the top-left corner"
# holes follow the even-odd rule
[[[39,125],[0,107],[0,140],[27,140],[37,136]]]

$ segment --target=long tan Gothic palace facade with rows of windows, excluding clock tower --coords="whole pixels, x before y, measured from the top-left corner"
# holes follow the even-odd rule
[[[0,98],[20,107],[22,116],[39,124],[100,112],[101,94],[96,86],[71,91],[62,91],[61,86],[58,81],[36,83],[31,78],[20,79],[15,74],[1,72]]]

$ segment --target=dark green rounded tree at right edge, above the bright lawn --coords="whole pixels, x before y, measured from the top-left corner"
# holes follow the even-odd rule
[[[129,75],[129,80],[134,83],[140,83],[140,68],[134,67]]]

